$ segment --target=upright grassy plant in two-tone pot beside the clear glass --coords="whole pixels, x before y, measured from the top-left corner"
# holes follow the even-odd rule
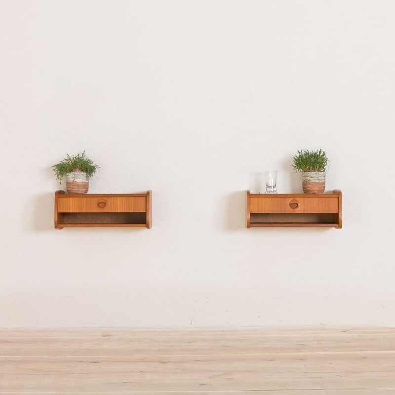
[[[305,194],[323,194],[325,191],[325,171],[328,167],[325,151],[298,150],[293,157],[292,167],[302,172],[302,188]]]

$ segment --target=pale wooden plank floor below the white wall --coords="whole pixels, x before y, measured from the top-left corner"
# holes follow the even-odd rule
[[[395,328],[3,329],[0,394],[395,395]]]

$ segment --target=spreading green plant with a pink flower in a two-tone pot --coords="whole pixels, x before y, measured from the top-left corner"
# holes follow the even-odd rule
[[[67,158],[54,164],[52,168],[60,184],[62,178],[66,177],[66,189],[69,194],[86,194],[89,188],[89,178],[99,166],[94,164],[92,159],[87,158],[83,151],[82,154],[72,157],[67,155]]]

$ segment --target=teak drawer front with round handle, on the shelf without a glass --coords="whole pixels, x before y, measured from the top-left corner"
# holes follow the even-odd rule
[[[58,197],[60,213],[128,213],[146,210],[146,197]]]

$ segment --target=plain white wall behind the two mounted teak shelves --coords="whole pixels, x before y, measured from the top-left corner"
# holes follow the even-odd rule
[[[0,2],[0,327],[395,325],[394,2]],[[343,229],[245,229],[323,148]],[[51,165],[153,191],[153,228],[53,229]],[[62,185],[64,187],[64,185]]]

